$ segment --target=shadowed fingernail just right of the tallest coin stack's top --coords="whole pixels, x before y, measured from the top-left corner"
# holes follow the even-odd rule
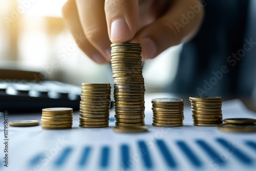
[[[153,59],[157,53],[155,42],[151,38],[143,38],[141,40],[142,56],[145,59]]]

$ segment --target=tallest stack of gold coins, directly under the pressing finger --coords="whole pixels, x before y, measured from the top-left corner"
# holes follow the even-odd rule
[[[144,125],[144,78],[140,44],[111,45],[116,126]]]

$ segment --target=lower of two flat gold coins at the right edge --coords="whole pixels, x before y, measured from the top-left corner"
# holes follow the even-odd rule
[[[229,124],[222,123],[218,125],[218,129],[225,132],[233,133],[254,133],[256,132],[256,124]]]

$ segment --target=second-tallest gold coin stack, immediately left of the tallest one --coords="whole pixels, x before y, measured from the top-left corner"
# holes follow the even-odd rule
[[[110,83],[82,83],[80,127],[108,127],[111,104]]]

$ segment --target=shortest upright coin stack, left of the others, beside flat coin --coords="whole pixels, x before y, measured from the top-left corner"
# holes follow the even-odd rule
[[[46,130],[71,129],[73,123],[72,108],[42,109],[41,126]]]

